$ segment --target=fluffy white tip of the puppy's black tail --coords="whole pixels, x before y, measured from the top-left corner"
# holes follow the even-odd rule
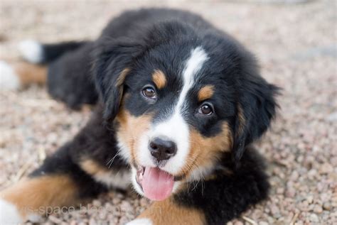
[[[18,44],[18,50],[22,57],[31,63],[43,61],[43,48],[36,40],[23,40]]]

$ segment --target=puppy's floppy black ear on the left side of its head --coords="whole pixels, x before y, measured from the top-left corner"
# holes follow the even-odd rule
[[[114,119],[121,104],[124,79],[132,70],[132,62],[142,52],[137,40],[123,38],[98,40],[94,52],[93,76],[97,92],[105,105],[104,119]]]

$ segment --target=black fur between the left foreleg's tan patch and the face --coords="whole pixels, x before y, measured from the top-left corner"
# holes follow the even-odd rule
[[[79,197],[96,197],[97,194],[106,192],[107,186],[96,182],[79,165],[82,160],[91,159],[107,167],[109,160],[114,158],[111,170],[127,170],[127,164],[117,155],[114,131],[102,124],[102,107],[97,106],[90,121],[73,141],[66,143],[56,153],[46,158],[43,165],[31,176],[69,175],[79,187]]]

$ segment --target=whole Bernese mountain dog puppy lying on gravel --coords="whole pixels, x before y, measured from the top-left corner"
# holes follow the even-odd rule
[[[129,224],[225,224],[267,198],[252,143],[274,118],[278,88],[246,48],[200,16],[127,11],[97,40],[26,41],[21,50],[47,70],[2,62],[8,87],[46,80],[55,99],[95,110],[73,141],[1,192],[5,223],[129,186],[153,200]]]

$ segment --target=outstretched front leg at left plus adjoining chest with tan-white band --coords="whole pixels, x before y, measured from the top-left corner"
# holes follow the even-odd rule
[[[129,170],[109,132],[102,126],[102,113],[96,111],[73,141],[46,158],[25,180],[0,192],[0,224],[36,221],[86,202],[109,187],[126,188]]]

